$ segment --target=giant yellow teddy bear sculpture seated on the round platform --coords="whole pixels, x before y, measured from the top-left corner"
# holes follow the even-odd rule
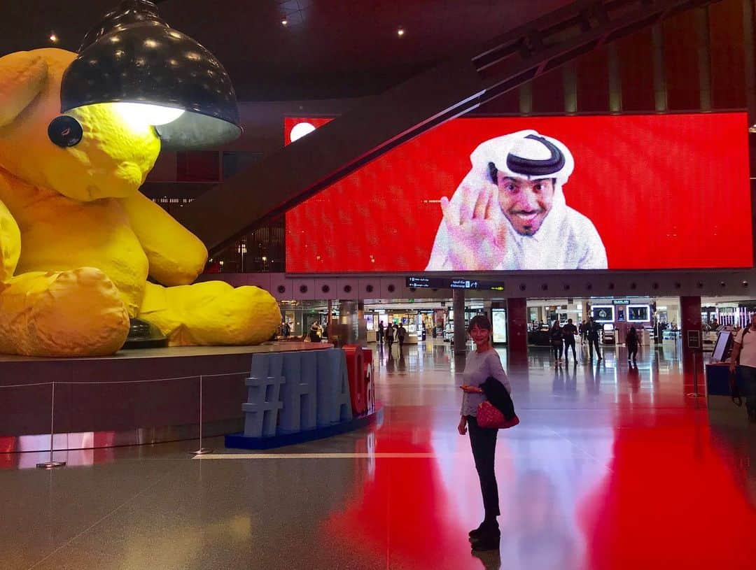
[[[0,353],[111,354],[136,316],[172,345],[267,340],[280,323],[274,298],[224,282],[190,285],[205,246],[139,192],[160,153],[153,128],[101,104],[66,113],[83,127],[76,146],[48,138],[74,57],[0,57]]]

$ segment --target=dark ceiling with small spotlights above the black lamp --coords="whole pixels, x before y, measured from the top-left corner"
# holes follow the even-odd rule
[[[8,0],[0,55],[75,51],[118,0]],[[163,0],[160,14],[228,69],[240,100],[375,94],[568,0]],[[281,20],[286,18],[287,26]],[[403,36],[397,34],[403,28]]]

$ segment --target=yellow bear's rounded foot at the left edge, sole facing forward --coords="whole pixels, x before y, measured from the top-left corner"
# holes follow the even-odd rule
[[[101,270],[22,273],[0,283],[0,353],[105,356],[127,334],[129,313]]]

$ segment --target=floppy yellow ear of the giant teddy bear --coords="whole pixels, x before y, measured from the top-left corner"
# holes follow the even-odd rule
[[[39,94],[48,76],[47,62],[30,51],[0,57],[0,127],[10,124]]]

